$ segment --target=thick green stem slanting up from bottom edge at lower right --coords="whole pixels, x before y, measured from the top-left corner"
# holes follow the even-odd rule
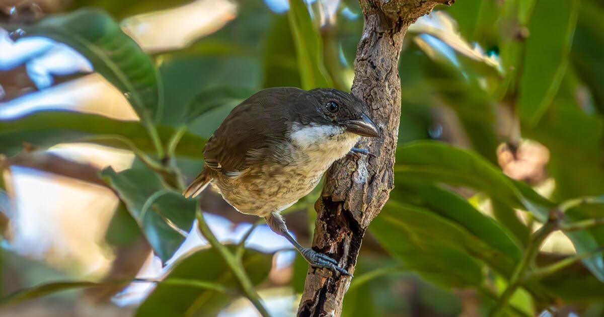
[[[535,231],[535,233],[528,239],[524,255],[514,269],[512,278],[510,278],[510,282],[507,284],[506,290],[504,290],[503,294],[501,294],[500,298],[495,304],[495,307],[493,307],[493,309],[490,311],[489,316],[497,316],[501,310],[507,306],[507,303],[510,301],[510,298],[512,298],[512,295],[516,292],[516,289],[518,289],[518,287],[521,286],[522,281],[524,281],[528,268],[535,263],[535,257],[539,252],[541,243],[543,243],[545,238],[547,238],[552,231],[557,229],[557,227],[557,210],[551,211],[547,222],[541,228]]]

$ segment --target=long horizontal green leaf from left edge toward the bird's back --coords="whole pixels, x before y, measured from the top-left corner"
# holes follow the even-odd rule
[[[162,141],[167,142],[175,130],[158,126]],[[69,111],[43,111],[11,121],[0,121],[0,153],[14,155],[21,151],[23,142],[49,147],[61,142],[95,142],[106,146],[129,149],[117,138],[95,136],[120,135],[129,139],[140,150],[153,152],[152,141],[144,127],[136,121],[120,121],[100,115]],[[179,156],[202,158],[205,139],[185,133],[176,151]]]

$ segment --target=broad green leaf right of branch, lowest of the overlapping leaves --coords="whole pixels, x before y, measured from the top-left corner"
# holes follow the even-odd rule
[[[493,241],[498,234],[487,237],[487,232],[474,228],[490,242],[485,243],[478,235],[456,223],[458,220],[440,216],[440,207],[436,209],[390,200],[371,222],[371,233],[390,254],[403,261],[406,269],[417,271],[442,286],[480,287],[482,274],[486,272],[484,264],[503,277],[511,277],[516,261],[496,249],[502,246],[500,242]],[[493,248],[493,243],[498,246]],[[516,251],[510,252],[507,247],[503,249],[512,257],[519,257]],[[539,301],[551,300],[550,292],[538,283],[530,282],[524,287]]]

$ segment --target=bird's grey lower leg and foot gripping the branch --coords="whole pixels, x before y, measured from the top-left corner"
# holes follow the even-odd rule
[[[272,231],[274,231],[278,235],[283,235],[285,239],[288,239],[288,241],[292,243],[292,245],[294,245],[294,247],[298,251],[300,251],[302,257],[304,257],[304,259],[308,263],[310,263],[310,265],[314,267],[326,267],[327,269],[333,271],[335,274],[345,274],[350,275],[352,277],[352,274],[350,274],[345,269],[342,269],[342,267],[339,267],[338,262],[336,260],[333,260],[333,258],[330,258],[325,254],[316,252],[313,249],[304,248],[303,246],[301,246],[300,243],[298,243],[296,239],[294,239],[294,237],[289,234],[288,227],[285,225],[285,221],[283,220],[283,217],[280,214],[272,213],[270,216],[265,217],[265,219],[266,224],[272,229]]]

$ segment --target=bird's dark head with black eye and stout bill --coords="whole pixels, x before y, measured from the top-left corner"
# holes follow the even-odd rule
[[[367,116],[369,106],[353,94],[338,89],[318,88],[309,91],[316,98],[313,116],[317,124],[342,127],[360,136],[379,136],[379,129]]]

